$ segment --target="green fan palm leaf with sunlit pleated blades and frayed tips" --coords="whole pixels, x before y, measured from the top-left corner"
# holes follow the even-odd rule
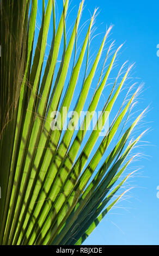
[[[76,132],[112,27],[107,30],[88,71],[90,35],[96,9],[77,56],[78,27],[84,1],[79,6],[68,42],[66,15],[69,1],[65,0],[63,4],[63,12],[56,27],[54,0],[48,0],[46,7],[45,1],[42,1],[41,27],[38,41],[35,43],[38,0],[1,1],[2,245],[80,245],[122,196],[117,199],[114,197],[129,175],[120,183],[118,180],[131,162],[132,159],[126,160],[127,156],[140,138],[139,136],[129,143],[131,132],[145,111],[124,131],[138,93],[137,89],[127,102],[123,99],[105,136],[96,148],[101,131],[108,119],[113,117],[112,108],[129,76],[131,66],[118,83],[124,64],[111,92],[107,95],[94,129],[86,139],[89,126],[93,122],[93,114],[90,113],[97,111],[121,48],[119,46],[115,51],[105,72],[113,44],[108,48],[99,82]],[[52,43],[44,65],[51,16]],[[62,46],[63,52],[60,54]],[[59,67],[58,56],[61,56]],[[83,74],[82,88],[75,102],[80,74]],[[76,103],[74,112],[65,129],[72,102]],[[112,147],[111,142],[116,134],[119,137]],[[105,159],[97,170],[103,157]],[[110,205],[109,200],[112,200]]]

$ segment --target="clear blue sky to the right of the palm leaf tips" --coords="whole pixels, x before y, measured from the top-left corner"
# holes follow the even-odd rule
[[[58,0],[58,12],[63,1]],[[68,27],[73,23],[78,10],[79,0],[72,0],[69,10],[75,7],[68,20]],[[159,245],[159,44],[158,1],[105,1],[85,0],[82,23],[99,7],[96,18],[96,34],[101,33],[92,42],[92,51],[97,42],[101,42],[106,25],[114,25],[109,39],[115,39],[115,47],[125,42],[119,56],[118,65],[129,60],[134,63],[132,76],[140,84],[144,82],[143,92],[138,101],[138,109],[149,107],[144,118],[145,127],[150,127],[143,140],[148,146],[139,149],[145,157],[136,166],[143,168],[131,178],[130,185],[135,188],[125,200],[118,203],[94,230],[85,245]],[[133,82],[133,80],[132,80]],[[138,110],[136,109],[136,110]],[[143,126],[144,126],[143,125]]]

